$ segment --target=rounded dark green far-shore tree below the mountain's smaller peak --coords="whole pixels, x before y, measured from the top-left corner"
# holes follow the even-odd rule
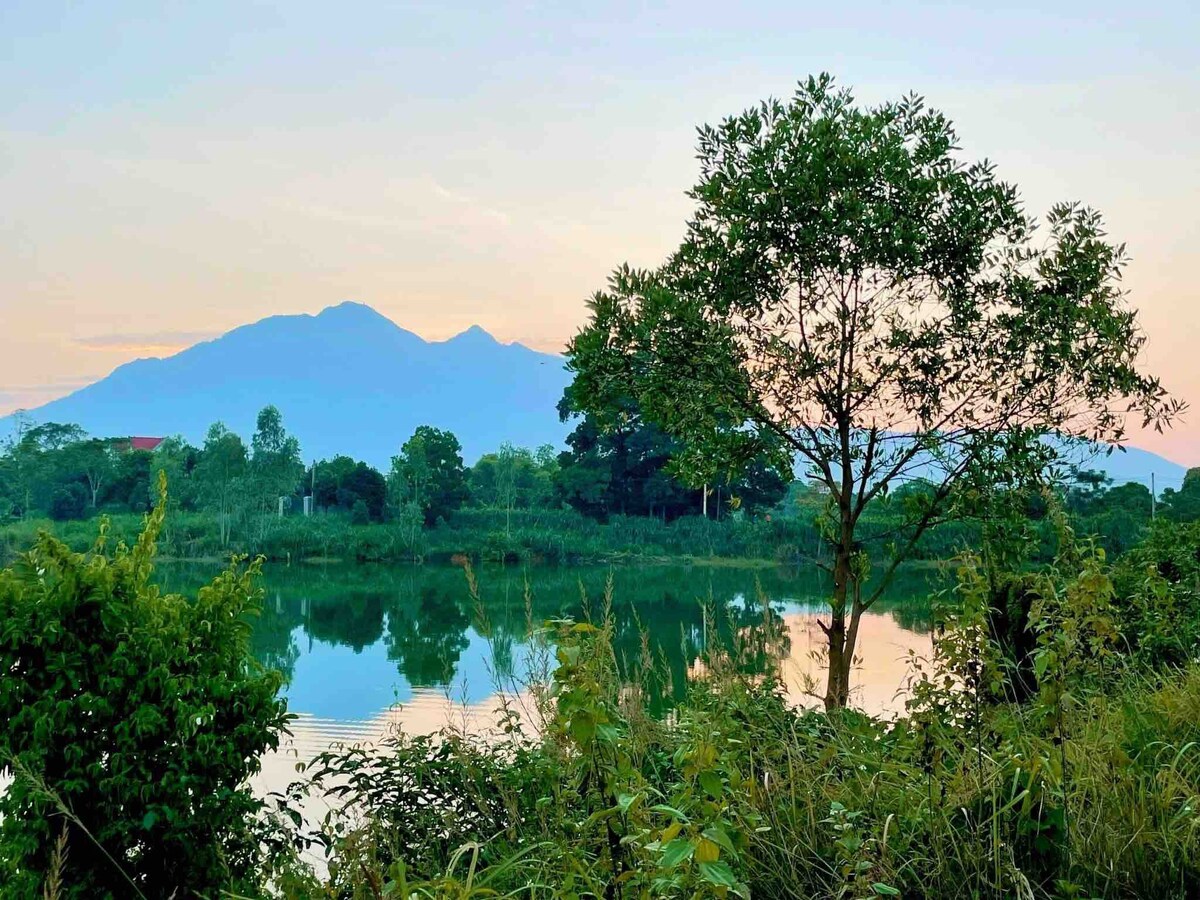
[[[426,524],[462,506],[468,491],[458,438],[449,431],[420,426],[391,460],[389,493],[397,508],[416,503]]]

